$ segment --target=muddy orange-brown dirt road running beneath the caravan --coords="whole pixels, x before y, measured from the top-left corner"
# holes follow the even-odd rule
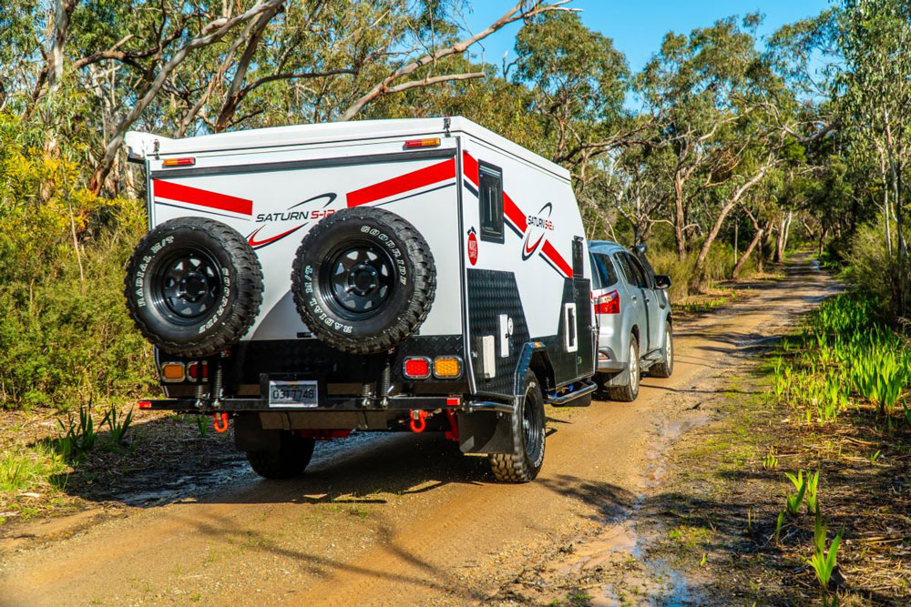
[[[630,511],[666,430],[700,419],[693,396],[832,288],[795,262],[785,280],[681,323],[674,376],[644,379],[636,402],[548,408],[536,482],[496,484],[485,460],[441,437],[353,440],[301,480],[244,477],[0,554],[0,605],[501,601],[504,584],[563,542]]]

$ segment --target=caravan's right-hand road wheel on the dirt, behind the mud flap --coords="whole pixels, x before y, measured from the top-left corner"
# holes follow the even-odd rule
[[[518,410],[510,416],[513,439],[512,453],[489,456],[490,469],[497,481],[534,481],[544,463],[546,427],[544,395],[537,385],[535,374],[525,374],[525,398],[519,400]]]

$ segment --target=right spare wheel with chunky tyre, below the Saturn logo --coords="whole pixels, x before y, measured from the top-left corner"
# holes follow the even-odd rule
[[[374,354],[415,334],[436,292],[430,247],[408,221],[376,207],[344,208],[301,241],[294,305],[323,343]]]

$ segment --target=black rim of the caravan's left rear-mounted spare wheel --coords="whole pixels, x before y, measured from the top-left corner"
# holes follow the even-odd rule
[[[179,325],[209,317],[221,297],[220,264],[199,249],[179,251],[166,259],[153,281],[155,307]]]

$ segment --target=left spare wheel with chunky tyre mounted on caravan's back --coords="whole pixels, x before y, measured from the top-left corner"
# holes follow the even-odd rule
[[[234,229],[207,218],[170,219],[127,262],[127,309],[159,349],[202,357],[230,348],[262,302],[256,254]]]

